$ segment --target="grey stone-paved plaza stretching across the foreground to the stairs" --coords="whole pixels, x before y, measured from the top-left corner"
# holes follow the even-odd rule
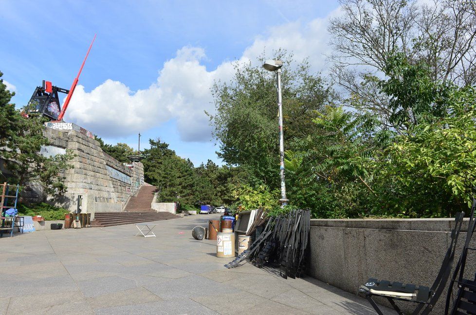
[[[157,221],[147,239],[133,224],[4,235],[0,314],[375,314],[311,277],[226,269],[214,241],[191,237],[218,216]]]

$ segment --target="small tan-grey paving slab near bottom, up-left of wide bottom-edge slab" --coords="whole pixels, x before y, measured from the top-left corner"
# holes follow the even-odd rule
[[[129,304],[142,304],[149,302],[157,302],[161,300],[161,298],[159,298],[155,294],[152,294],[150,291],[146,290],[143,287],[88,298],[88,302],[93,309]]]

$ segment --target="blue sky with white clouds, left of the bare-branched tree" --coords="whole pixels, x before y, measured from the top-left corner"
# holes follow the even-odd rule
[[[42,80],[69,89],[97,38],[65,120],[137,148],[161,138],[196,166],[221,164],[203,111],[231,62],[278,47],[325,68],[337,1],[1,0],[0,71],[21,107]],[[272,56],[269,55],[271,58]]]

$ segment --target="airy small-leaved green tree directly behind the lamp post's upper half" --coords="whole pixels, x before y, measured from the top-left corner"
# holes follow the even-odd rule
[[[286,140],[312,132],[312,117],[330,98],[329,85],[311,74],[307,61],[299,65],[292,54],[276,51],[282,71],[284,135]],[[261,64],[265,58],[261,57]],[[235,64],[231,83],[212,88],[216,114],[211,115],[218,152],[227,164],[240,166],[249,181],[272,189],[279,185],[279,147],[275,73],[252,63]]]

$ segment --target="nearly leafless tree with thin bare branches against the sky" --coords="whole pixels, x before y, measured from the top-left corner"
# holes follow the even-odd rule
[[[340,14],[331,18],[329,24],[333,48],[330,73],[340,87],[343,105],[370,111],[381,120],[382,128],[407,130],[407,118],[414,117],[401,112],[401,107],[395,108],[395,102],[377,85],[388,73],[389,58],[396,51],[404,55],[408,64],[424,64],[428,68],[429,71],[425,71],[429,78],[427,91],[438,82],[451,82],[461,87],[476,83],[474,1],[339,2]],[[373,79],[368,80],[369,77]],[[411,82],[404,84],[402,92],[420,94],[415,87],[424,87],[414,87]],[[406,96],[410,100],[413,94]],[[423,98],[419,100],[427,103]]]

